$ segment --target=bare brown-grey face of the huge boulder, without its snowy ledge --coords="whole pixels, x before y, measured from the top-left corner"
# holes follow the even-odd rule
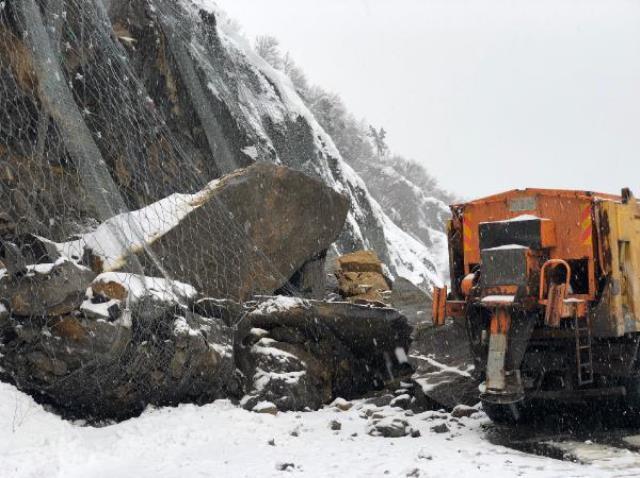
[[[347,198],[320,181],[258,163],[220,180],[151,249],[169,274],[204,294],[246,300],[273,293],[322,254],[348,209]],[[244,241],[230,234],[234,223]]]

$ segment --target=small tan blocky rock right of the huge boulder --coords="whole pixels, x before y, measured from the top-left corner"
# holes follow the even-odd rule
[[[338,257],[335,276],[338,292],[351,302],[388,301],[390,282],[383,274],[382,262],[374,251],[357,251]]]

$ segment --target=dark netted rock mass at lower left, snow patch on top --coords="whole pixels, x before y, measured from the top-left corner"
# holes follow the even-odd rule
[[[180,303],[184,297],[178,301],[180,292],[174,291],[184,291],[185,284],[155,279],[141,289],[141,280],[119,282],[130,309],[96,287],[102,292],[90,292],[83,312],[2,320],[3,378],[65,416],[92,420],[128,418],[148,404],[204,403],[238,394],[232,329]],[[114,313],[101,316],[114,305]]]

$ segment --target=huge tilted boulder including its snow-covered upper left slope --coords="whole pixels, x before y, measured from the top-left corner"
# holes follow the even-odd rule
[[[130,254],[138,253],[149,274],[242,301],[273,293],[321,257],[348,209],[347,198],[320,181],[259,163],[199,193],[174,194],[116,216],[59,249],[77,260],[89,256],[92,267],[105,271],[131,269]]]

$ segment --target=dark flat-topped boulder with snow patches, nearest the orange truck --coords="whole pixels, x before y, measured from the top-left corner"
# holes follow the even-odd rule
[[[410,373],[411,329],[393,309],[277,297],[244,319],[236,351],[248,379],[243,405],[318,408]]]

